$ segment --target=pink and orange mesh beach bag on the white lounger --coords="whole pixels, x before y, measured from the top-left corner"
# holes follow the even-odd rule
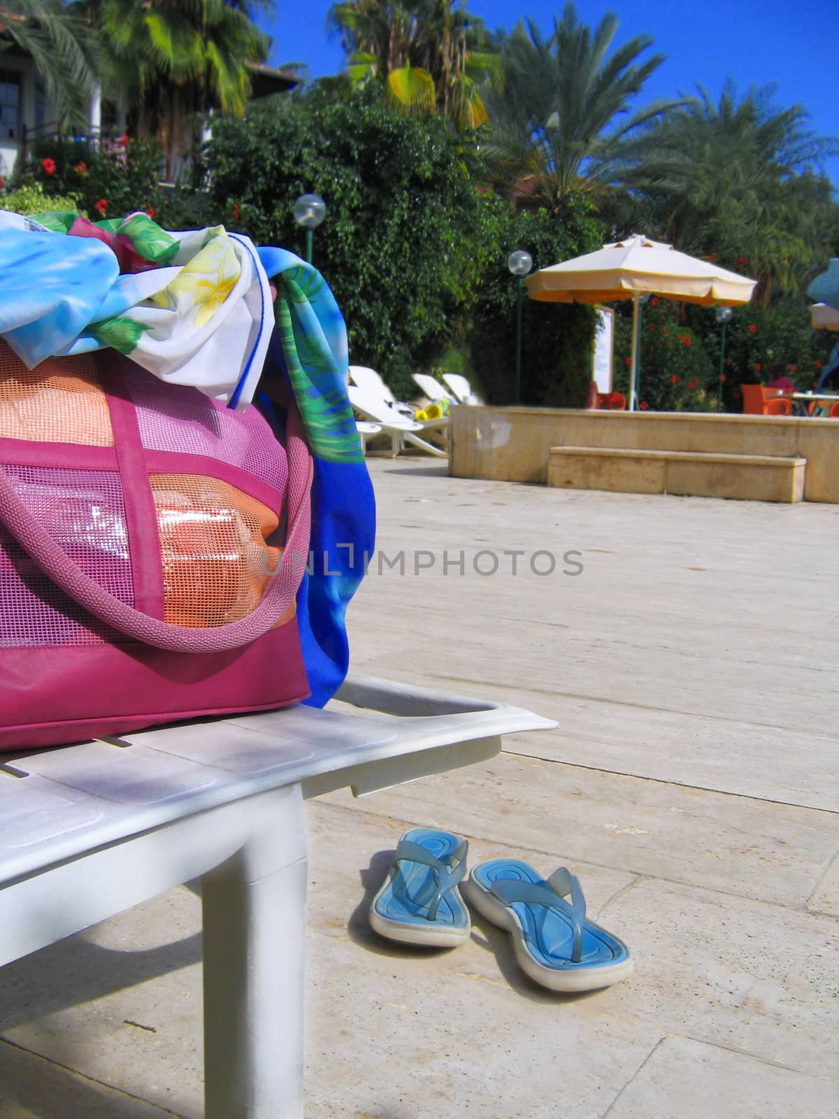
[[[305,698],[311,479],[293,406],[283,445],[113,351],[0,342],[0,750]]]

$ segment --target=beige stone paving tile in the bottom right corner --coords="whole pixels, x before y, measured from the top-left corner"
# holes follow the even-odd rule
[[[605,1119],[836,1119],[839,1082],[808,1076],[744,1053],[666,1037]]]

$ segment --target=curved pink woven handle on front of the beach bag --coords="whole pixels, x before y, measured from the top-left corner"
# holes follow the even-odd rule
[[[299,438],[292,436],[291,438]],[[302,440],[301,440],[302,443]],[[311,526],[311,509],[309,496],[312,485],[312,459],[308,450],[308,477],[300,492],[300,486],[292,480],[292,458],[301,459],[301,454],[289,455],[289,505],[296,498],[296,508],[289,509],[289,532],[283,556],[293,557],[292,563],[284,564],[271,576],[265,594],[260,604],[246,618],[226,626],[207,629],[191,629],[187,626],[171,626],[159,618],[152,618],[141,610],[129,606],[120,599],[100,586],[56,544],[37,518],[27,509],[18,497],[15,486],[4,470],[0,469],[0,521],[8,528],[23,551],[39,567],[68,594],[74,602],[88,613],[106,622],[113,629],[126,637],[142,641],[144,645],[170,652],[221,652],[238,649],[267,633],[291,608],[298,587],[303,577],[298,557],[308,557],[309,532]],[[305,470],[303,462],[300,466]]]

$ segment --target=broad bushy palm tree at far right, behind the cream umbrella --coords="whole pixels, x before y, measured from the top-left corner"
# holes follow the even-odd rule
[[[656,122],[644,158],[620,176],[662,236],[748,270],[764,304],[773,286],[796,291],[831,254],[837,211],[816,171],[839,141],[816,135],[801,105],[777,110],[773,97],[766,86],[738,100],[729,79],[715,103],[700,88]]]

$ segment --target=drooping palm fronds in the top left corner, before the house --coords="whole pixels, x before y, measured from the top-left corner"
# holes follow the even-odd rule
[[[84,19],[62,0],[0,0],[0,50],[12,44],[35,60],[58,125],[84,128],[98,65]]]

